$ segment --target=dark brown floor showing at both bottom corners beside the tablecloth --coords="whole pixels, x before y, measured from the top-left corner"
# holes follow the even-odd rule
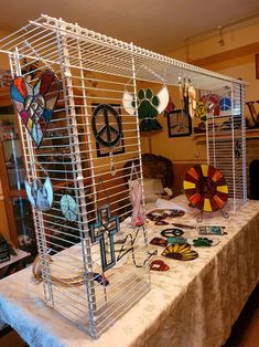
[[[4,336],[0,334],[0,347],[28,346],[11,328],[8,328],[6,333]],[[238,320],[233,326],[231,335],[223,347],[259,347],[259,285],[250,295]]]

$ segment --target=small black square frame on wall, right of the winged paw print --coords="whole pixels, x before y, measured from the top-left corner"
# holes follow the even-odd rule
[[[192,119],[184,109],[168,114],[169,137],[188,136],[192,134]]]

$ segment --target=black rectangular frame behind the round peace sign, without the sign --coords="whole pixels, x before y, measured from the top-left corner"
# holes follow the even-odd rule
[[[100,104],[93,103],[91,104],[93,112],[99,105]],[[121,120],[121,105],[120,104],[108,104],[108,106],[111,106],[117,112],[117,114]],[[120,122],[120,123],[122,126],[122,122]],[[110,153],[112,153],[112,155],[123,154],[125,153],[123,132],[121,130],[121,138],[118,141],[118,144],[114,145],[112,147],[106,147],[106,146],[102,146],[101,144],[99,144],[98,141],[96,141],[96,153],[97,153],[98,158],[108,157],[110,155]]]

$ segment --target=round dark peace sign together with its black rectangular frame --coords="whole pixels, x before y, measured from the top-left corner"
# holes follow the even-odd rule
[[[120,105],[91,104],[91,106],[97,157],[108,157],[110,153],[114,155],[125,153]]]

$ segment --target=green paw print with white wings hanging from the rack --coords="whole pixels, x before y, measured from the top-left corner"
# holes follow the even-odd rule
[[[138,108],[141,132],[160,130],[162,126],[157,117],[169,104],[169,91],[166,86],[163,86],[155,95],[151,88],[141,88],[138,91],[137,99],[134,99],[131,93],[126,91],[122,103],[125,109],[130,115],[134,115],[136,108]]]

